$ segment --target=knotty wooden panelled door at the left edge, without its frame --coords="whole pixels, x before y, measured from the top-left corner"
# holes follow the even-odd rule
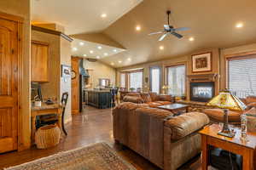
[[[17,150],[18,24],[0,19],[0,153]]]

